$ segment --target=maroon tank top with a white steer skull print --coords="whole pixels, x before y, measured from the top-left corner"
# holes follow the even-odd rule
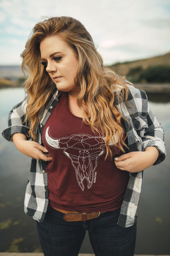
[[[43,131],[52,207],[80,212],[111,211],[121,207],[129,173],[107,159],[105,139],[98,137],[68,106],[67,93],[50,115]],[[114,145],[111,146],[115,154]]]

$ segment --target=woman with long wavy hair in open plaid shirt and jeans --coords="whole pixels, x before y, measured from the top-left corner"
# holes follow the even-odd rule
[[[27,98],[3,135],[32,157],[24,210],[44,255],[78,255],[86,230],[96,255],[133,255],[142,170],[165,158],[146,93],[70,17],[39,22],[21,57]]]

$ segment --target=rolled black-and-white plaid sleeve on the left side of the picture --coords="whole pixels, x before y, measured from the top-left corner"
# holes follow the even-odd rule
[[[29,127],[25,124],[25,113],[27,108],[27,100],[20,102],[14,106],[8,115],[8,127],[2,131],[3,137],[12,141],[15,133],[22,133],[29,139]]]

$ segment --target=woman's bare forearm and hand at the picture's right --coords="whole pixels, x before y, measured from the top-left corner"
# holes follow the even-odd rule
[[[118,169],[128,172],[140,172],[154,164],[159,151],[156,147],[148,147],[145,151],[134,151],[115,158]]]

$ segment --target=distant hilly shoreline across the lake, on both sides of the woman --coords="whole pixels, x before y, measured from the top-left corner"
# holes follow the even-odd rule
[[[138,89],[148,93],[170,93],[170,52],[157,57],[115,63],[109,66],[124,75]],[[21,87],[21,66],[0,66],[0,89]]]

